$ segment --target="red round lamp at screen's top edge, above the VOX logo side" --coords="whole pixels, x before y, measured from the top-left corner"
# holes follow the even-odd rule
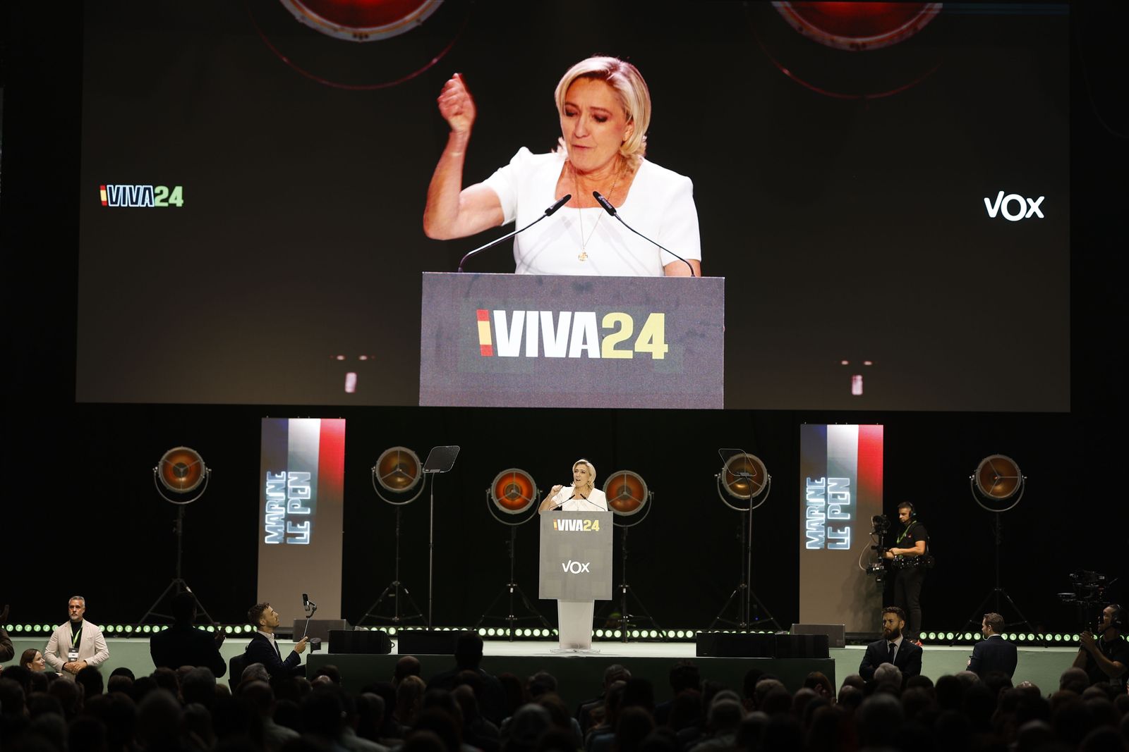
[[[774,2],[797,32],[837,50],[877,50],[917,34],[940,2]]]

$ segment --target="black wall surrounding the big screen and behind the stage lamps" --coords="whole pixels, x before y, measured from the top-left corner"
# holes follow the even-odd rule
[[[714,489],[716,449],[726,445],[758,454],[773,475],[772,497],[754,517],[754,587],[790,622],[804,422],[886,425],[887,511],[903,498],[919,503],[939,560],[926,585],[927,629],[962,626],[990,587],[990,515],[968,490],[986,454],[1014,457],[1030,477],[1023,502],[1004,516],[1003,575],[1032,621],[1074,625],[1054,596],[1070,570],[1124,570],[1129,513],[1117,468],[1124,449],[1126,195],[1110,187],[1126,171],[1121,134],[1129,130],[1124,82],[1113,76],[1124,53],[1110,36],[1124,20],[1120,8],[1087,5],[1071,18],[1073,390],[1071,412],[1054,414],[76,404],[81,20],[60,23],[11,3],[5,12],[0,603],[12,604],[14,619],[60,619],[72,592],[89,599],[95,620],[130,621],[145,611],[174,564],[174,510],[156,496],[150,468],[177,444],[199,449],[215,469],[208,494],[187,510],[185,577],[213,617],[243,619],[255,595],[259,419],[266,415],[349,419],[344,616],[355,620],[392,578],[393,514],[373,494],[368,468],[394,444],[421,455],[435,444],[464,448],[436,487],[435,613],[443,625],[475,621],[506,581],[508,531],[490,519],[483,494],[495,475],[520,467],[548,487],[566,481],[569,463],[585,455],[603,476],[639,472],[656,493],[654,513],[631,534],[634,591],[664,627],[706,626],[739,576],[738,517]],[[34,30],[46,27],[51,35]],[[191,321],[183,326],[191,330]],[[1038,383],[1040,374],[1025,378]],[[426,504],[425,495],[404,512],[402,573],[425,608]],[[519,538],[519,582],[533,593],[534,529]]]

